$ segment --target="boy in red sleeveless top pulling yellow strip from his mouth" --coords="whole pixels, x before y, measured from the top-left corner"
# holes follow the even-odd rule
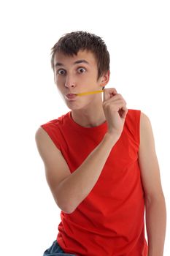
[[[36,131],[61,208],[58,236],[44,256],[162,256],[166,206],[149,118],[128,110],[116,89],[104,89],[109,53],[100,37],[65,34],[51,64],[71,111]]]

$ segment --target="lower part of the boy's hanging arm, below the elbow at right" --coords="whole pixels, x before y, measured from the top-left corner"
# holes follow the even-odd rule
[[[148,256],[163,256],[166,234],[166,204],[164,197],[146,200]]]

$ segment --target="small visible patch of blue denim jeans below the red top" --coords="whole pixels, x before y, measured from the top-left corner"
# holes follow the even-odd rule
[[[55,240],[52,246],[46,249],[43,256],[63,256],[63,255],[75,256],[75,255],[71,255],[69,253],[63,252],[63,250],[61,249],[61,246],[59,246],[58,242]]]

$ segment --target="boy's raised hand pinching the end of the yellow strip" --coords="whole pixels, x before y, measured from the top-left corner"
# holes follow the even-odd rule
[[[120,137],[128,109],[126,108],[125,99],[121,94],[117,94],[115,88],[104,89],[103,109],[109,134]]]

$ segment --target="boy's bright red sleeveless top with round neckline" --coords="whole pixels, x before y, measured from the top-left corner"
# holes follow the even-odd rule
[[[128,110],[122,135],[101,175],[72,214],[61,211],[57,241],[77,256],[147,256],[144,238],[144,191],[140,176],[140,110]],[[69,165],[79,167],[107,132],[107,122],[82,127],[71,111],[42,124]]]

